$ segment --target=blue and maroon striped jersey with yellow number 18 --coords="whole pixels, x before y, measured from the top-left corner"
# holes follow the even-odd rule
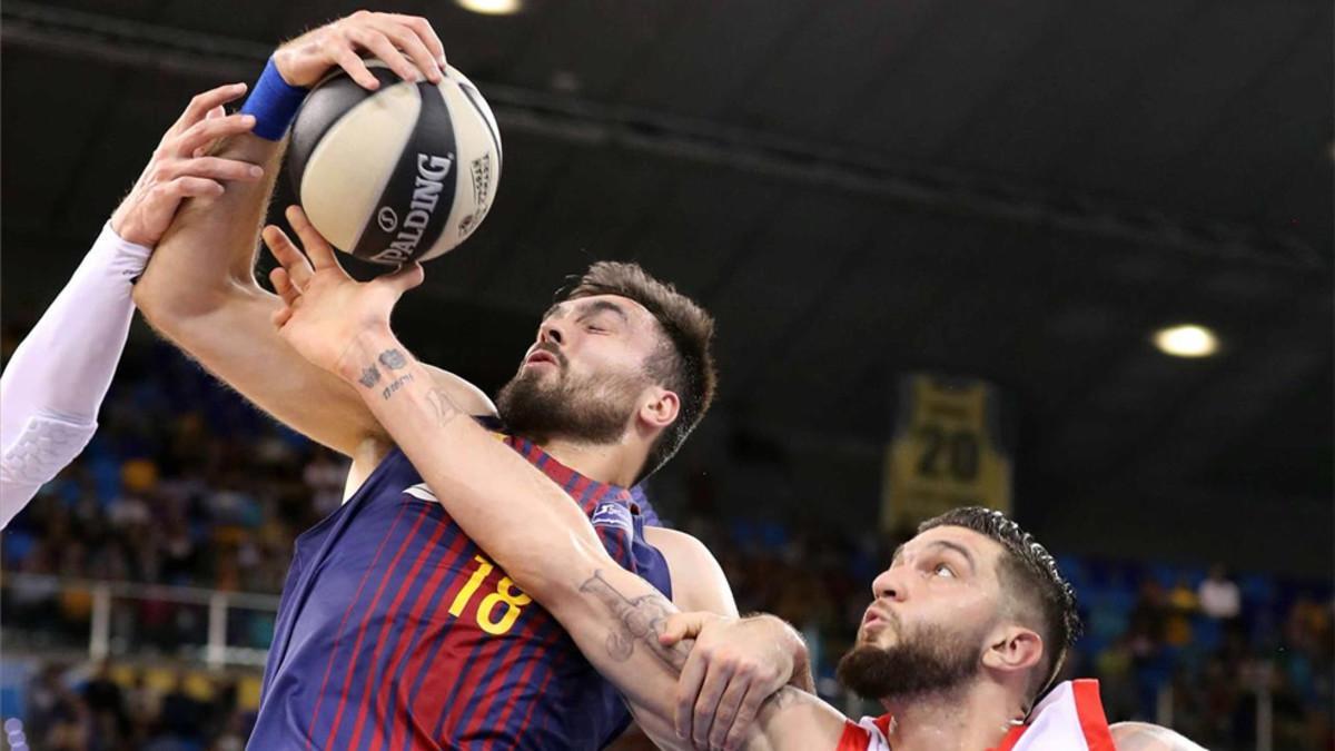
[[[672,596],[630,490],[505,441],[583,506],[613,559]],[[395,449],[296,540],[248,748],[601,748],[627,723],[615,690]]]

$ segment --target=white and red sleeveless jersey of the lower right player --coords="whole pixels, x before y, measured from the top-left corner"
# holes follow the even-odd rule
[[[836,751],[892,751],[889,734],[889,715],[849,720]],[[1115,751],[1099,682],[1059,683],[1033,708],[1029,722],[1012,728],[992,751]]]

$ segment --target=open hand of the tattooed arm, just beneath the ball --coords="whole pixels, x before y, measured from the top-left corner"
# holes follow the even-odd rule
[[[279,263],[268,278],[283,298],[274,326],[302,357],[346,377],[343,354],[359,335],[388,330],[399,297],[422,283],[422,266],[409,263],[392,274],[358,282],[343,270],[334,247],[300,207],[290,206],[287,220],[306,253],[279,227],[264,227],[264,245]]]

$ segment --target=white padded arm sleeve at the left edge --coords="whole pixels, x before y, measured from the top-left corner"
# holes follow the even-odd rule
[[[150,253],[107,223],[0,374],[0,528],[92,438]]]

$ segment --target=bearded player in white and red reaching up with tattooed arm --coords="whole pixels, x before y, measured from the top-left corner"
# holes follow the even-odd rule
[[[275,253],[284,274],[303,279],[280,285],[284,307],[274,317],[280,335],[360,394],[439,502],[561,621],[661,747],[1199,750],[1165,728],[1109,727],[1096,682],[1047,691],[1080,629],[1075,595],[1043,545],[983,508],[924,522],[872,583],[873,601],[838,675],[878,700],[885,715],[853,723],[785,687],[764,703],[750,730],[697,722],[717,706],[745,700],[730,686],[718,691],[734,669],[716,659],[717,645],[738,633],[738,624],[682,615],[618,567],[579,506],[489,440],[403,349],[390,330],[390,311],[422,282],[421,266],[359,283],[308,223],[295,227],[310,263],[290,247]],[[274,229],[266,239],[274,245]],[[362,384],[367,367],[388,362],[386,377],[396,388]]]

